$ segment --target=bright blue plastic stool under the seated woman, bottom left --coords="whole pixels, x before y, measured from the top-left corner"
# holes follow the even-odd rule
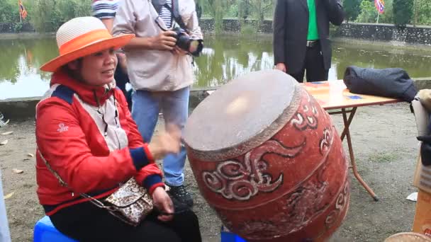
[[[55,226],[52,225],[50,217],[43,217],[35,225],[33,232],[34,242],[78,242],[72,238],[60,233]]]

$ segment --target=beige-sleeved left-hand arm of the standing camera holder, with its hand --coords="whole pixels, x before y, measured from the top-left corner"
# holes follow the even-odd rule
[[[116,18],[113,23],[113,35],[118,36],[122,34],[137,34],[136,16],[138,13],[149,14],[148,8],[150,8],[150,3],[148,1],[133,1],[133,0],[123,0],[118,11],[116,13]],[[150,18],[148,18],[150,19]],[[177,39],[172,37],[175,35],[173,31],[165,31],[156,36],[137,36],[130,40],[125,48],[143,48],[147,50],[173,50]]]

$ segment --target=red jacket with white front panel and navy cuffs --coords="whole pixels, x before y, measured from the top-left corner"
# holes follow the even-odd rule
[[[79,193],[106,197],[132,177],[150,193],[163,185],[118,88],[86,86],[62,72],[53,74],[36,107],[36,143],[38,197],[47,215],[85,202]]]

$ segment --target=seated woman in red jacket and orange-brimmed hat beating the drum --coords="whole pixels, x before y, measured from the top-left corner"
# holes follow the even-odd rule
[[[40,204],[59,231],[79,241],[201,241],[196,215],[174,209],[155,163],[179,152],[179,129],[167,126],[169,132],[144,143],[115,88],[114,50],[131,38],[113,38],[94,17],[74,18],[57,31],[60,56],[40,68],[53,74],[36,108]],[[80,195],[103,200],[130,178],[147,188],[155,206],[138,226]]]

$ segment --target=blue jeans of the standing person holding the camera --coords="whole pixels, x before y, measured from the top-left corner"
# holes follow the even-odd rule
[[[162,110],[164,123],[173,123],[182,130],[189,115],[190,87],[177,91],[151,92],[134,91],[132,94],[132,116],[144,142],[150,142],[154,133],[159,111]],[[169,154],[163,161],[164,180],[168,185],[183,185],[186,149],[179,154]]]

